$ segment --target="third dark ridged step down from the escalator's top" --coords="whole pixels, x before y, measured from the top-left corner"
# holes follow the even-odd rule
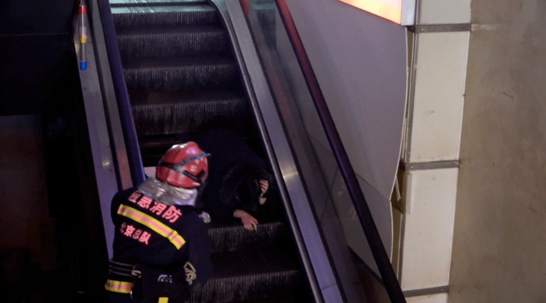
[[[141,58],[124,62],[123,71],[127,89],[149,92],[226,90],[239,82],[233,60],[218,57]]]

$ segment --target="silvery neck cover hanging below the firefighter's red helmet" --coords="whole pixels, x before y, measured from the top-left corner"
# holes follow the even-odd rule
[[[155,175],[138,186],[144,195],[167,205],[195,206],[197,189],[185,189],[159,181]]]

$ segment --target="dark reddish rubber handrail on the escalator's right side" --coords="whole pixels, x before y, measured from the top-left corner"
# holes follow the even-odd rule
[[[345,183],[347,184],[347,190],[349,195],[353,199],[354,208],[357,211],[362,229],[364,229],[364,234],[366,239],[370,244],[373,257],[383,278],[383,284],[385,289],[389,294],[390,301],[393,303],[402,303],[406,302],[400,284],[394,274],[393,266],[390,263],[387,252],[379,233],[377,232],[377,227],[373,222],[370,209],[364,198],[364,194],[360,189],[360,185],[357,180],[357,175],[354,173],[349,157],[343,147],[339,133],[337,132],[334,120],[328,110],[328,105],[322,94],[321,87],[318,84],[317,77],[314,74],[313,68],[311,67],[311,62],[307,57],[305,52],[304,45],[301,42],[298,30],[295,27],[294,20],[286,4],[286,0],[275,0],[279,14],[281,15],[282,22],[284,27],[287,30],[290,43],[294,48],[296,58],[300,64],[301,70],[304,74],[307,87],[310,90],[311,97],[313,99],[314,105],[317,108],[318,116],[321,119],[322,125],[330,142],[330,147],[334,152],[336,157],[337,164],[340,167],[341,174]]]

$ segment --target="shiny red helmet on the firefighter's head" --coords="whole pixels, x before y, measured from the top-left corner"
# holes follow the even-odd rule
[[[199,187],[209,173],[207,156],[195,142],[176,144],[159,160],[156,178],[186,189]]]

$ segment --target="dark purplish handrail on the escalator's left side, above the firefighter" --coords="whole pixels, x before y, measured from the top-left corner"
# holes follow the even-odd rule
[[[109,0],[97,0],[97,2],[100,21],[102,22],[104,31],[106,53],[108,54],[112,81],[114,82],[117,106],[120,112],[123,137],[125,138],[131,179],[133,180],[133,185],[138,185],[144,181],[144,167],[140,156],[138,138],[136,136],[133,114],[129,102],[129,93],[127,92],[127,85],[123,75],[120,49],[117,44],[116,29],[114,27],[114,18],[110,11]]]

